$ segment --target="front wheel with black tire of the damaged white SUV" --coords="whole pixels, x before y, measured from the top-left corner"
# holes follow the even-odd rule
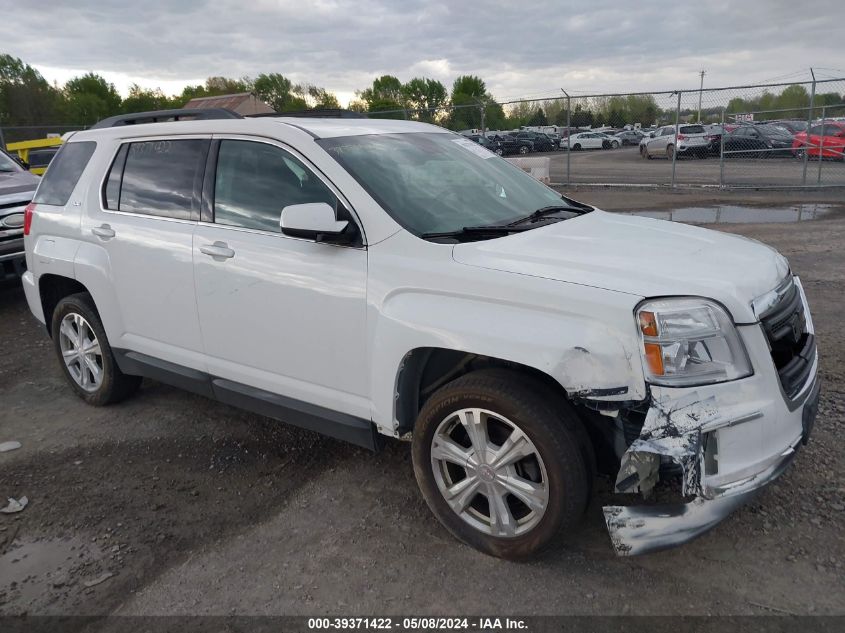
[[[486,422],[476,427],[473,419]],[[469,428],[478,428],[476,444],[488,447],[480,463]],[[491,556],[525,559],[584,513],[591,485],[585,436],[571,406],[540,383],[504,370],[472,372],[425,403],[414,428],[414,474],[429,508],[452,535]],[[521,456],[495,466],[494,451],[514,438]],[[451,502],[460,509],[453,509],[445,491],[465,481],[472,488],[460,488],[462,496]]]

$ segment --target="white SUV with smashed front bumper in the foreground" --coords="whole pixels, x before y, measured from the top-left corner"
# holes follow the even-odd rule
[[[816,411],[777,252],[579,204],[431,125],[80,132],[25,225],[29,306],[81,398],[145,376],[411,441],[434,514],[496,556],[571,530],[596,469],[677,497],[606,506],[618,553],[685,542],[779,475]]]

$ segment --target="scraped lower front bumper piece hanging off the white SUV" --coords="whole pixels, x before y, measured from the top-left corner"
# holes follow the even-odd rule
[[[619,556],[647,554],[686,543],[753,499],[789,466],[799,445],[787,449],[765,471],[737,482],[712,499],[654,506],[605,506],[604,519]]]

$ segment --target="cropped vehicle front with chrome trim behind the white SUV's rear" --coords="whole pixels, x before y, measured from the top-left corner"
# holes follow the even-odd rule
[[[26,268],[24,210],[39,180],[0,149],[0,280],[20,277]]]

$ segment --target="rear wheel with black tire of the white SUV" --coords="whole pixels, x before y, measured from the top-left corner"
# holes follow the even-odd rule
[[[119,402],[141,384],[140,376],[124,374],[117,366],[94,301],[87,292],[59,301],[53,310],[50,331],[65,379],[88,404],[99,407]]]

